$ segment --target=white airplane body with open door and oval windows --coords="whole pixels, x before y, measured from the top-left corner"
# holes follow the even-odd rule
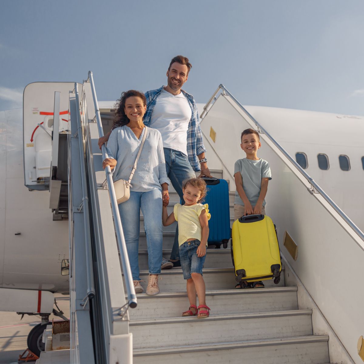
[[[58,89],[57,83],[42,83],[46,87],[42,86],[44,95],[41,97],[37,94],[37,84],[40,83],[28,85],[24,91],[24,123],[27,120],[24,134],[23,110],[0,112],[0,178],[3,185],[0,226],[4,232],[0,236],[1,311],[42,312],[39,292],[67,293],[69,290],[69,277],[61,275],[62,261],[69,258],[68,221],[54,220],[44,178],[50,176],[49,133],[53,127],[50,120],[53,118],[54,91],[61,91],[60,131],[67,132],[68,91],[74,84],[59,83]],[[103,102],[102,107],[111,110],[113,104]],[[270,107],[245,108],[294,159],[296,153],[306,155],[308,174],[363,230],[364,194],[360,191],[364,174],[361,140],[364,118]],[[223,115],[221,119],[223,122]],[[243,158],[243,154],[232,156],[231,163]],[[319,168],[318,154],[327,155],[327,170]],[[340,155],[349,158],[349,170],[340,169]],[[272,175],[274,178],[274,170]],[[269,188],[267,201],[269,203]],[[11,295],[10,301],[5,300],[10,290],[22,291]],[[32,305],[22,302],[25,291],[34,292]],[[45,309],[48,313],[51,312],[49,302],[48,297]]]

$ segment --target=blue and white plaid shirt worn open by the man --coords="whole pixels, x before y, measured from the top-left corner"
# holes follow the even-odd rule
[[[163,87],[165,86],[162,86],[157,90],[147,91],[145,93],[145,97],[147,99],[147,112],[144,115],[143,123],[146,126],[150,126],[150,118],[154,106],[159,98],[159,95],[161,95]],[[202,132],[200,128],[200,123],[198,121],[197,106],[192,95],[187,94],[187,92],[183,90],[181,90],[181,92],[183,93],[183,95],[186,96],[186,99],[192,110],[192,116],[188,124],[188,130],[187,130],[187,156],[193,170],[200,171],[201,168],[197,156],[200,155],[201,153],[206,152],[206,148],[202,142]]]

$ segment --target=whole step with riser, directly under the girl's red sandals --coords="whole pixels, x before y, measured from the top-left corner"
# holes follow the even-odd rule
[[[133,348],[226,343],[241,340],[277,339],[312,335],[312,310],[258,312],[193,317],[154,318],[130,321]],[[202,326],[203,325],[203,326]]]

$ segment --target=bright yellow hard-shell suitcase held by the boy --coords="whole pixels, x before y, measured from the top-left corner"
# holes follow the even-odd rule
[[[231,255],[237,282],[280,281],[281,256],[276,227],[267,215],[247,215],[237,219],[232,228]]]

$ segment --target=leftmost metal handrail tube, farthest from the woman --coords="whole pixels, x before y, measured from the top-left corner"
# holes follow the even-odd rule
[[[78,95],[78,83],[75,83],[75,96],[76,96],[76,114],[77,114],[77,131],[78,131],[78,146],[80,152],[80,166],[81,166],[81,184],[82,184],[82,207],[83,207],[83,220],[85,231],[85,248],[86,248],[86,276],[87,276],[87,297],[95,297],[94,276],[92,273],[92,251],[91,251],[91,233],[90,233],[90,210],[88,205],[87,185],[86,185],[86,166],[83,150],[82,126],[80,120],[80,102]],[[79,208],[80,209],[80,208]]]

